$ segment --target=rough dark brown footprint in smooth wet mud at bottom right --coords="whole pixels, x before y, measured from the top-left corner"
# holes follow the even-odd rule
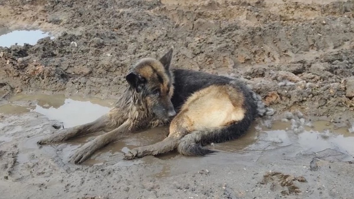
[[[270,190],[273,192],[280,192],[282,195],[297,195],[301,192],[300,188],[296,186],[296,182],[306,182],[303,176],[285,175],[282,172],[268,171],[263,175],[261,184],[270,185]]]

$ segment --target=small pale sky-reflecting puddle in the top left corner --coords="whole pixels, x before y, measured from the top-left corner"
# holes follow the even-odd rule
[[[21,45],[24,43],[35,45],[39,39],[50,36],[41,30],[14,30],[10,33],[0,35],[0,46],[10,47],[11,45]],[[53,39],[53,37],[51,37]]]

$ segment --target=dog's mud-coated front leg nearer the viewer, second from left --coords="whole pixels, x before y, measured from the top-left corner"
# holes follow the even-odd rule
[[[130,124],[131,122],[127,120],[113,131],[97,136],[94,140],[84,144],[84,146],[77,149],[76,152],[70,156],[70,162],[80,164],[90,158],[98,149],[127,135],[131,132],[129,130]]]

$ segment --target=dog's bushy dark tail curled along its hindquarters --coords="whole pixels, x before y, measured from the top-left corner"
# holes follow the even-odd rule
[[[177,150],[182,155],[187,156],[205,156],[207,154],[216,153],[217,151],[207,149],[204,146],[210,143],[220,143],[234,140],[244,135],[247,132],[251,122],[252,118],[245,117],[238,123],[228,126],[193,131],[188,135],[185,135],[179,141]]]

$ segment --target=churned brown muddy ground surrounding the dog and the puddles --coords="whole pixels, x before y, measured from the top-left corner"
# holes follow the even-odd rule
[[[0,34],[41,29],[55,36],[0,47],[0,105],[19,94],[116,99],[138,58],[174,46],[173,67],[245,78],[276,110],[274,119],[299,110],[308,121],[348,129],[353,13],[353,0],[0,0]],[[92,166],[67,163],[77,144],[35,144],[60,121],[35,112],[0,117],[0,136],[10,137],[0,141],[0,198],[352,198],[353,151],[303,153],[298,138],[264,140],[272,131],[260,127],[249,132],[263,146],[252,152],[237,141],[237,152],[205,158],[123,161],[119,151]],[[147,144],[141,136],[120,146]]]

